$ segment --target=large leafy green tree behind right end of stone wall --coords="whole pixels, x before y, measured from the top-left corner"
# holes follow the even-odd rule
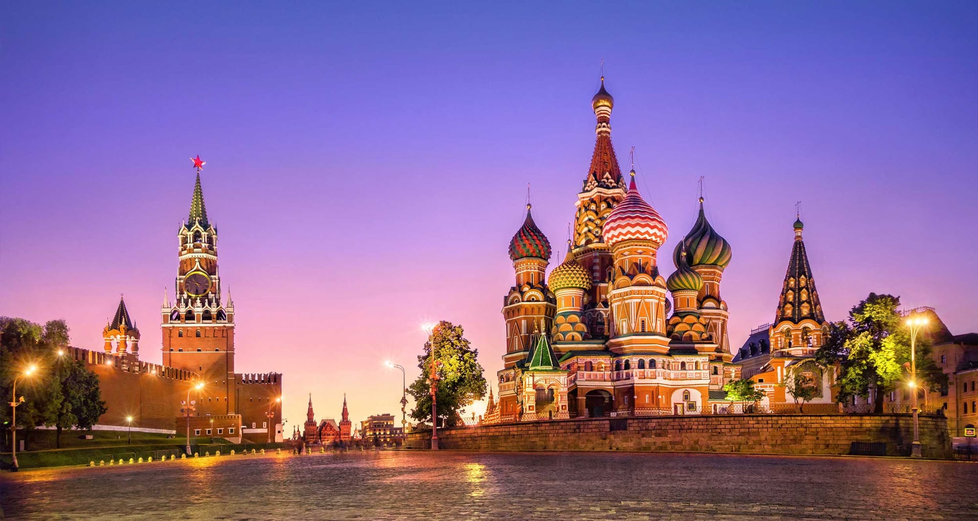
[[[838,363],[837,400],[874,397],[873,412],[883,412],[883,395],[905,377],[911,360],[910,331],[899,313],[900,297],[869,293],[849,311],[847,322],[829,327],[825,344],[816,352],[822,365]],[[947,375],[931,359],[930,339],[920,335],[916,342],[917,372],[926,388],[937,390]]]

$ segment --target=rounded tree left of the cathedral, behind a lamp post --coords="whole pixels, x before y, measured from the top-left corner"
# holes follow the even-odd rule
[[[424,343],[422,354],[418,357],[418,368],[422,374],[408,387],[408,394],[415,398],[415,409],[411,417],[419,421],[431,420],[431,345],[435,346],[435,359],[438,364],[439,423],[454,426],[465,408],[486,394],[486,379],[477,357],[478,350],[471,347],[464,336],[462,326],[441,321],[431,331]]]

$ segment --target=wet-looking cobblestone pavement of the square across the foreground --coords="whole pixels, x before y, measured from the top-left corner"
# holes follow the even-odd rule
[[[9,519],[978,519],[978,463],[368,452],[0,478]]]

